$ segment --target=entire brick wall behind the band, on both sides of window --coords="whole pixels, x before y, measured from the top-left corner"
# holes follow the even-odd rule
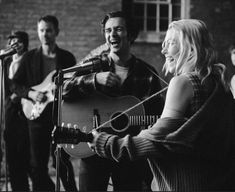
[[[235,1],[190,1],[190,17],[206,22],[215,37],[220,59],[225,62],[227,48],[235,41]],[[37,20],[41,15],[53,14],[60,21],[58,44],[73,52],[79,61],[104,42],[100,21],[106,12],[120,10],[121,4],[122,0],[0,0],[0,49],[12,30],[27,31],[30,48],[38,46]],[[160,43],[136,43],[133,46],[133,52],[152,64],[163,77],[164,59],[160,51]]]

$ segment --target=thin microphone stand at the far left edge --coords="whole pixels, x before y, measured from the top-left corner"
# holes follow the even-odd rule
[[[1,149],[3,143],[3,131],[6,128],[5,122],[5,73],[4,73],[4,57],[0,57],[0,127],[1,127]],[[7,161],[6,161],[6,146],[4,145],[4,154],[5,154],[5,186],[6,191],[8,191],[8,168],[7,168]]]

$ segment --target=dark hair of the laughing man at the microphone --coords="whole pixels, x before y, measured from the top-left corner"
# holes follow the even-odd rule
[[[115,12],[107,13],[104,16],[104,19],[101,22],[102,32],[104,32],[104,30],[105,30],[106,22],[110,18],[115,18],[115,17],[121,17],[121,18],[123,18],[125,20],[128,37],[129,37],[131,43],[133,43],[136,40],[136,38],[138,37],[139,29],[138,29],[135,21],[130,17],[130,15],[127,15],[123,11],[115,11]]]

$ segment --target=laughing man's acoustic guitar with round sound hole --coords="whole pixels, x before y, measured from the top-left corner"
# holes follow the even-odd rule
[[[98,128],[113,134],[122,134],[133,126],[145,128],[157,121],[156,115],[144,115],[142,104],[132,108],[140,101],[134,96],[108,97],[100,93],[81,98],[75,102],[63,102],[62,126],[65,129],[80,129],[89,133]],[[132,108],[131,110],[127,110]],[[124,113],[123,113],[124,112]],[[139,127],[138,127],[139,128]],[[72,157],[85,158],[94,152],[87,143],[62,144]]]

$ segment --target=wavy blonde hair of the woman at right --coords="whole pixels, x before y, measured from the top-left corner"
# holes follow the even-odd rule
[[[180,50],[175,75],[196,72],[204,80],[211,73],[215,73],[225,85],[226,67],[217,64],[217,53],[206,24],[196,19],[182,19],[170,23],[168,30],[170,29],[179,33]],[[168,73],[167,65],[164,65],[164,69]]]

